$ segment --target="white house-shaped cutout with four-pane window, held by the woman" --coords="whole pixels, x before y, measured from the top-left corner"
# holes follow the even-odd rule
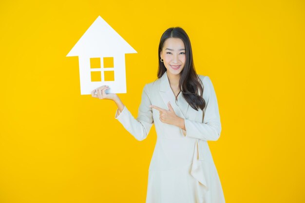
[[[108,85],[107,93],[126,93],[125,54],[137,53],[100,16],[67,56],[78,56],[80,94]]]

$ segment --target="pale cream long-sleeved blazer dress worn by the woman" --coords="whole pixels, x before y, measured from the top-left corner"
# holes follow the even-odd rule
[[[134,119],[125,106],[117,119],[135,139],[144,140],[155,125],[157,141],[149,166],[146,203],[225,203],[221,182],[207,141],[220,137],[221,123],[216,94],[209,76],[199,75],[206,101],[202,110],[194,110],[180,92],[172,92],[167,72],[144,86],[138,117]],[[168,110],[185,121],[186,130],[163,123],[159,111]]]

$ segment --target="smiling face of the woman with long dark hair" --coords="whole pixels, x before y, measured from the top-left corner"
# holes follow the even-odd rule
[[[165,40],[160,52],[168,74],[180,75],[184,68],[186,55],[182,39],[171,37]]]

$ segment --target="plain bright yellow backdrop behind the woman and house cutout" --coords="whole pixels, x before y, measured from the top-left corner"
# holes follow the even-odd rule
[[[181,26],[209,75],[222,133],[210,149],[227,203],[304,203],[305,2],[1,1],[0,203],[144,203],[156,133],[138,142],[116,105],[80,95],[66,57],[97,16],[126,55],[137,116],[162,33]]]

